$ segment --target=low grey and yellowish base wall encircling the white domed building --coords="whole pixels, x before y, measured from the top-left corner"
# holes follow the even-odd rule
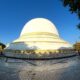
[[[60,52],[59,50],[55,50],[55,52],[50,52],[50,51],[45,52],[45,50],[44,50],[44,51],[38,52],[38,53],[35,53],[34,51],[31,51],[29,53],[19,53],[19,51],[17,50],[16,53],[6,51],[6,53],[4,55],[9,58],[17,58],[17,59],[28,59],[28,60],[42,59],[42,60],[45,60],[45,59],[57,59],[57,58],[65,58],[65,57],[75,56],[76,52],[73,50],[67,50],[64,52]]]

